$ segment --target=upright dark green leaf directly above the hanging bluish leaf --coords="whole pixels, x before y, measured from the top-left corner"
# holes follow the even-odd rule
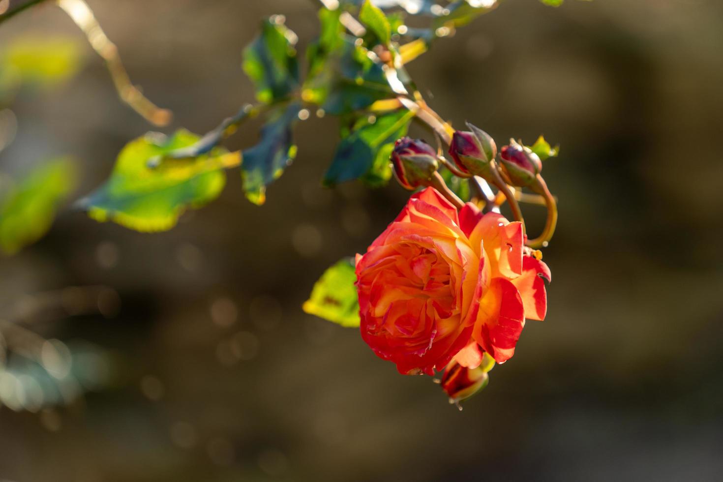
[[[276,15],[262,22],[261,34],[244,49],[244,72],[254,81],[260,102],[287,98],[299,86],[295,44],[296,34]]]

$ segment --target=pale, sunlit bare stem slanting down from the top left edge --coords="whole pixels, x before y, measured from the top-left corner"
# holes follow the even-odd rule
[[[85,0],[57,0],[56,3],[69,15],[75,25],[80,27],[90,42],[90,46],[106,61],[106,66],[111,72],[111,78],[121,100],[155,126],[170,124],[173,113],[168,109],[156,106],[142,94],[138,87],[131,83],[118,54],[118,47],[100,28],[98,20],[95,20],[95,15]]]

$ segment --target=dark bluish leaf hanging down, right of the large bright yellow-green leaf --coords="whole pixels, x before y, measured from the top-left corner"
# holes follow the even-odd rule
[[[297,102],[271,111],[261,129],[261,140],[244,151],[241,176],[249,201],[262,205],[266,201],[266,186],[283,174],[284,168],[296,157],[292,129],[299,119],[301,105]]]

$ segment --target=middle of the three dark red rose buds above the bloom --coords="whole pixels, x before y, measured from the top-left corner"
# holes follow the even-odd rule
[[[497,156],[495,139],[479,127],[467,123],[469,131],[456,131],[450,143],[450,156],[464,173],[485,177],[489,163]]]

